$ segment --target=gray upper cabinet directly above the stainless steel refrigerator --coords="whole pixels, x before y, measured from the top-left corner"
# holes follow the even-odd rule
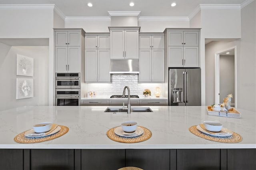
[[[199,29],[166,29],[168,67],[199,67]]]

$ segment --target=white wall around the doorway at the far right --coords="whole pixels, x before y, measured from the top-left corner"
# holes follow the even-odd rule
[[[237,106],[256,111],[256,15],[255,1],[241,10],[241,39],[216,41],[205,46],[206,105],[214,103],[214,53],[237,46]]]

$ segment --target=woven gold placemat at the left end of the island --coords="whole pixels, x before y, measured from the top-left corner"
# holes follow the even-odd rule
[[[60,131],[51,134],[49,136],[45,136],[45,137],[26,137],[25,136],[25,132],[22,132],[20,134],[18,134],[17,136],[15,136],[14,141],[17,143],[39,143],[39,142],[44,142],[44,141],[48,141],[48,140],[52,140],[55,138],[58,138],[60,136],[63,136],[64,134],[66,134],[68,132],[68,127],[65,126],[61,126],[58,125],[60,127]]]

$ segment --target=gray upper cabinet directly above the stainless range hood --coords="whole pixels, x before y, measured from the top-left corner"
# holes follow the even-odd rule
[[[110,58],[138,59],[140,27],[109,27]]]

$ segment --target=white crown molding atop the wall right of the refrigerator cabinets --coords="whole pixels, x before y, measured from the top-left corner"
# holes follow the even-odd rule
[[[200,4],[201,10],[240,10],[240,4]]]

